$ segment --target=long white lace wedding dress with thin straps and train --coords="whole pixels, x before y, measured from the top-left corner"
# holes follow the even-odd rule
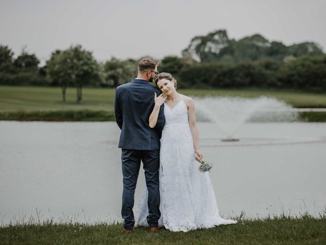
[[[188,110],[181,100],[173,109],[165,104],[166,124],[160,148],[159,190],[161,217],[158,225],[171,231],[189,231],[236,220],[220,216],[208,176],[198,170]],[[135,214],[135,226],[148,226],[147,188]]]

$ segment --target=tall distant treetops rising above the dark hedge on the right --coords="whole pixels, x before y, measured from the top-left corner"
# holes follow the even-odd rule
[[[229,39],[226,30],[218,30],[206,36],[194,37],[188,47],[182,51],[182,55],[198,62],[237,62],[266,58],[283,60],[288,56],[316,56],[323,55],[323,52],[315,42],[286,46],[282,42],[269,41],[260,34],[235,40]]]

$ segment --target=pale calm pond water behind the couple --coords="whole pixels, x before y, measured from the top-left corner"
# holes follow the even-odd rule
[[[239,142],[222,142],[212,122],[199,132],[224,217],[324,210],[326,124],[247,122]],[[0,224],[36,218],[36,209],[41,220],[121,220],[119,135],[115,122],[0,121]],[[141,168],[136,204],[144,188]]]

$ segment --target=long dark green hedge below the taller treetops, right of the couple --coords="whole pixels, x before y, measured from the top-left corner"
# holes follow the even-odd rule
[[[183,67],[180,88],[280,88],[326,91],[326,56],[289,62],[198,63]]]

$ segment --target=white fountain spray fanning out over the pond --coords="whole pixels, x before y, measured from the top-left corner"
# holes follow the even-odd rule
[[[195,98],[197,121],[214,122],[225,134],[222,141],[239,141],[236,131],[245,122],[295,121],[297,112],[275,98],[204,97]]]

